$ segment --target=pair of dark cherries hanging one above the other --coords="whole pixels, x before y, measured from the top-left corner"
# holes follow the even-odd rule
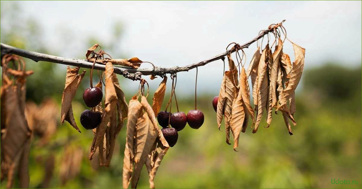
[[[83,93],[83,100],[88,107],[96,107],[103,98],[102,89],[89,87]],[[102,114],[96,111],[84,110],[80,115],[80,123],[85,129],[96,128],[102,120]]]

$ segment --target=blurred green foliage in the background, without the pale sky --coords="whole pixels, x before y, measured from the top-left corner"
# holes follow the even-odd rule
[[[22,19],[18,18],[18,9],[16,4],[1,2],[1,43],[56,54],[44,48],[41,26],[36,21],[31,18],[18,21]],[[5,23],[10,25],[3,27]],[[121,24],[115,24],[114,35],[118,40],[122,29]],[[90,38],[88,46],[97,42],[96,38]],[[115,43],[106,45],[109,49],[117,48]],[[52,97],[59,103],[60,110],[65,68],[59,69],[58,65],[48,62],[26,62],[27,68],[34,70],[27,83],[27,100],[39,104],[44,98]],[[84,81],[88,80],[84,78]],[[82,84],[84,86],[80,87],[72,103],[79,126],[79,115],[86,109],[81,89],[89,85],[88,82]],[[345,68],[337,62],[313,67],[304,71],[300,85],[296,93],[295,119],[298,125],[292,126],[294,135],[289,136],[282,116],[273,114],[270,128],[261,127],[256,134],[252,134],[252,129],[248,128],[246,133],[241,133],[238,152],[226,144],[225,133],[217,129],[216,114],[211,105],[213,95],[199,95],[198,109],[205,114],[205,123],[198,130],[186,126],[179,132],[177,144],[168,151],[159,167],[156,187],[361,188],[361,67]],[[123,88],[128,94],[128,101],[133,92],[127,91],[126,86]],[[151,88],[151,96],[153,91],[155,89]],[[151,96],[148,97],[149,101]],[[166,94],[165,102],[168,97],[169,94]],[[180,110],[186,113],[194,107],[193,98],[179,96],[178,102]],[[265,123],[265,119],[262,123]],[[81,134],[68,123],[59,124],[56,134],[43,147],[36,145],[38,137],[34,137],[29,161],[30,188],[42,187],[45,159],[49,154],[55,156],[50,188],[122,187],[126,129],[123,128],[118,136],[108,168],[97,166],[97,159],[88,160],[93,132],[83,127],[80,129]],[[80,146],[84,150],[84,158],[80,173],[62,185],[59,166],[67,145]],[[358,184],[332,185],[331,179],[357,180]],[[4,181],[1,188],[5,185]],[[14,187],[19,187],[17,180]],[[145,167],[139,188],[148,188]]]

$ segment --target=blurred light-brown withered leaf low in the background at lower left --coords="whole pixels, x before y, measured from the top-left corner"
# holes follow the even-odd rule
[[[80,147],[68,146],[62,157],[59,168],[59,177],[62,185],[78,175],[83,158],[83,149]]]

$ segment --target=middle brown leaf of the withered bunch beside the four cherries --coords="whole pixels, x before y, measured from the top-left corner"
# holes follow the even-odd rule
[[[134,173],[132,175],[132,181],[131,181],[131,188],[137,188],[137,183],[138,183],[141,171],[142,171],[142,167],[146,163],[148,154],[150,154],[151,150],[153,150],[155,148],[154,144],[157,139],[157,130],[152,126],[152,121],[147,117],[146,114],[144,114],[143,117],[144,117],[144,119],[148,120],[148,132],[146,133],[147,139],[144,142],[142,155],[140,156],[139,161],[135,162]],[[138,153],[138,151],[137,151],[137,153]],[[137,155],[136,155],[136,157],[137,157]]]

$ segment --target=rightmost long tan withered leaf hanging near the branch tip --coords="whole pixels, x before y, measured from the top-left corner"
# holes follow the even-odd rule
[[[292,68],[291,68],[291,72],[290,72],[290,79],[289,79],[289,83],[287,84],[287,86],[285,87],[285,89],[281,92],[280,99],[279,99],[279,107],[277,108],[277,110],[281,110],[283,112],[285,112],[289,119],[292,120],[293,124],[295,125],[295,121],[293,118],[293,115],[291,113],[291,111],[288,109],[287,107],[287,101],[294,101],[291,98],[294,98],[294,91],[296,89],[296,87],[298,86],[298,83],[300,81],[300,78],[302,77],[302,73],[303,73],[303,67],[304,67],[304,56],[306,53],[306,49],[298,46],[295,43],[292,43],[293,45],[293,49],[294,49],[294,56],[295,56],[295,61],[293,62]],[[293,109],[293,113],[295,111],[295,105],[292,105]]]

